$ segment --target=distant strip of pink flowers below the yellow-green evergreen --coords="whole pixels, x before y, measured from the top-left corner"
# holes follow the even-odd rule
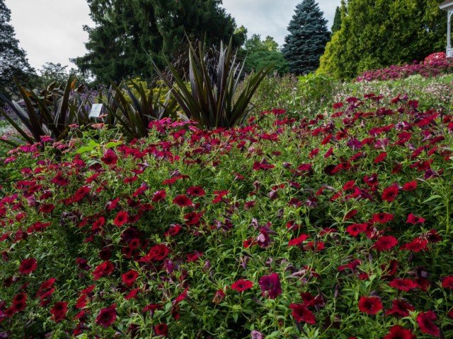
[[[374,69],[366,71],[356,78],[358,82],[364,81],[386,81],[408,78],[409,76],[420,75],[425,78],[441,76],[453,72],[453,59],[447,58],[445,52],[433,53],[424,61],[401,66],[392,65],[386,69]]]

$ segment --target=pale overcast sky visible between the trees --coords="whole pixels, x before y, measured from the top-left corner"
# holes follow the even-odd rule
[[[285,41],[287,25],[302,0],[224,0],[223,6],[244,25],[248,36],[271,35]],[[331,28],[340,0],[319,0],[321,11]],[[6,0],[11,9],[11,24],[28,61],[35,69],[46,62],[69,64],[69,59],[86,53],[88,35],[83,25],[92,25],[86,0]],[[74,65],[71,65],[74,66]]]

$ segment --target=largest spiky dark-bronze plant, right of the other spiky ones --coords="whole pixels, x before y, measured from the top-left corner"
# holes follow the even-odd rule
[[[168,68],[176,85],[155,65],[156,72],[171,88],[171,94],[185,116],[207,128],[231,128],[243,121],[251,109],[253,94],[270,72],[269,67],[261,69],[249,76],[239,88],[243,66],[236,64],[231,40],[228,46],[221,43],[219,50],[213,48],[210,52],[201,43],[195,51],[189,42],[189,61],[190,90],[170,63]]]

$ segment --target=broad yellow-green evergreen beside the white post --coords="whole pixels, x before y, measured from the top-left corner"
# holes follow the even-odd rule
[[[435,0],[343,1],[341,28],[319,73],[353,78],[369,69],[423,60],[444,48],[446,15]]]

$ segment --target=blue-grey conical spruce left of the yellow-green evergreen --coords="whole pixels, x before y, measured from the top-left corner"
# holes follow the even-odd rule
[[[315,0],[304,0],[296,6],[288,30],[282,52],[289,63],[289,71],[296,74],[316,71],[331,35]]]

